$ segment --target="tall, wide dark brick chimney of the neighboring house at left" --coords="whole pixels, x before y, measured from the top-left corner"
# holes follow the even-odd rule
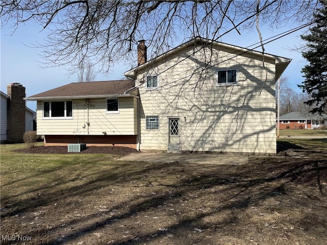
[[[21,143],[25,133],[25,87],[12,83],[7,86],[7,94],[10,97],[7,107],[7,141]]]

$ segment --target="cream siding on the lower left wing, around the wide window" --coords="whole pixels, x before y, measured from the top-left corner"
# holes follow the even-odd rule
[[[106,114],[107,100],[73,100],[74,118],[42,119],[42,102],[37,102],[37,134],[39,135],[136,135],[137,103],[133,97],[119,98],[119,114]],[[89,126],[86,124],[89,122]]]

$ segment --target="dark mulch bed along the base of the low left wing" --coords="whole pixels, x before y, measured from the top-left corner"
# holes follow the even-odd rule
[[[67,146],[37,146],[30,149],[14,150],[13,152],[28,154],[113,154],[121,156],[138,153],[133,148],[123,146],[90,146],[82,152],[68,152]]]

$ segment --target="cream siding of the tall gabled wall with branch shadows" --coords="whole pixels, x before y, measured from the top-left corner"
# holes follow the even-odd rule
[[[236,56],[228,49],[206,52],[185,59],[194,53],[190,47],[137,77],[141,128],[146,128],[146,115],[160,116],[159,130],[142,131],[141,151],[167,151],[167,118],[178,116],[182,151],[275,154],[275,61],[265,59],[265,82],[260,56]],[[203,63],[209,68],[203,70]],[[228,69],[237,69],[237,83],[217,86],[217,70]],[[160,90],[149,92],[137,83],[145,74],[160,74]]]

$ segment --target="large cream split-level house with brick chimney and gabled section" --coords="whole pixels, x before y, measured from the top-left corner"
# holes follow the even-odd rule
[[[147,61],[128,80],[72,83],[37,101],[46,145],[126,145],[167,152],[275,154],[275,81],[290,59],[195,38]]]

